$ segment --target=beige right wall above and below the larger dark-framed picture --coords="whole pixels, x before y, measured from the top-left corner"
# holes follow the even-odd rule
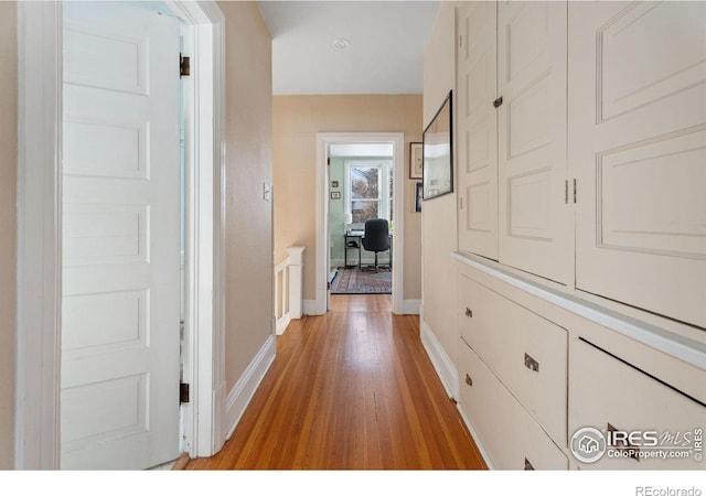
[[[456,88],[456,17],[453,3],[442,2],[424,55],[424,122],[431,120],[450,89]],[[453,95],[456,115],[456,91]],[[454,163],[456,171],[456,163]],[[457,182],[454,181],[454,184]],[[457,359],[456,192],[425,202],[422,215],[422,315],[449,357]]]

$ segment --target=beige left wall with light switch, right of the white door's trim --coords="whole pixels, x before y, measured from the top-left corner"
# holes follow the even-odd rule
[[[272,333],[271,41],[255,2],[226,17],[226,388]]]

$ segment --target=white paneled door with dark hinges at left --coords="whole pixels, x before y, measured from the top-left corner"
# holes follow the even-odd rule
[[[179,21],[64,3],[62,468],[179,455]]]

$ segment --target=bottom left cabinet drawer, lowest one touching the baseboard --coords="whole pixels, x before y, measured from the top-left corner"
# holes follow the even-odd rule
[[[460,405],[495,468],[566,470],[568,459],[463,342]]]

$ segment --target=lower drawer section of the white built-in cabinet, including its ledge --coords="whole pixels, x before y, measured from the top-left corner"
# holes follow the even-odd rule
[[[576,298],[456,255],[459,410],[501,470],[706,470],[694,444],[706,422],[705,347],[641,327]],[[687,457],[605,455],[584,463],[574,434],[591,427],[656,431]],[[680,434],[677,434],[680,433]],[[639,434],[638,434],[639,435]],[[575,441],[576,442],[576,441]],[[642,450],[642,451],[640,451]]]

